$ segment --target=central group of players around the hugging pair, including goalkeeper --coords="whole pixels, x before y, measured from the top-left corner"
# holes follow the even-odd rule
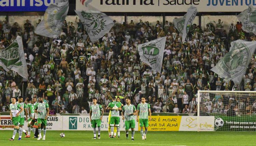
[[[122,108],[123,107],[123,108]],[[150,104],[145,102],[145,98],[142,97],[141,103],[137,109],[131,104],[131,100],[126,98],[126,105],[120,102],[120,98],[113,99],[113,102],[109,103],[106,107],[109,109],[109,138],[120,138],[120,118],[119,111],[122,111],[122,119],[125,120],[125,132],[126,139],[128,139],[128,130],[131,129],[131,140],[134,141],[134,128],[135,119],[134,115],[137,115],[137,122],[140,123],[142,140],[146,140],[148,121],[151,120]],[[94,138],[96,139],[96,127],[98,127],[98,139],[100,139],[101,120],[103,117],[104,110],[101,105],[97,104],[97,98],[93,98],[93,105],[90,106],[90,122],[93,127]],[[148,115],[150,118],[148,119]],[[143,127],[145,131],[143,131]]]

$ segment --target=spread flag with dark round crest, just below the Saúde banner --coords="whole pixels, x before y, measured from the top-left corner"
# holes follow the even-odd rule
[[[75,13],[84,24],[84,29],[92,42],[103,37],[114,26],[113,20],[108,15],[99,11],[75,11]]]

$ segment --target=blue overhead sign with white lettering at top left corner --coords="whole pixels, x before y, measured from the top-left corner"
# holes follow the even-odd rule
[[[54,0],[0,0],[0,12],[44,12]]]

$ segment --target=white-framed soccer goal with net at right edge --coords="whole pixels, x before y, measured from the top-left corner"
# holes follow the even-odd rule
[[[256,131],[255,91],[198,91],[197,103],[198,131]]]

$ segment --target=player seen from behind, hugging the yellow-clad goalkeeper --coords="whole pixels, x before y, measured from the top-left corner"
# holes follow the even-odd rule
[[[120,98],[117,97],[117,100],[113,98],[113,102],[109,103],[108,109],[111,110],[111,117],[110,117],[110,129],[111,129],[111,136],[110,138],[114,138],[114,126],[116,126],[117,130],[117,136],[120,138],[120,117],[119,117],[119,111],[122,110],[121,106],[122,103],[120,103]]]

